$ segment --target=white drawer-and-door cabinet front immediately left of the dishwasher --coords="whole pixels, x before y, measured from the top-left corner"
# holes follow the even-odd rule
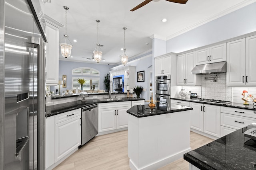
[[[55,124],[55,162],[81,145],[81,109],[55,115],[55,122],[63,115],[66,119]]]

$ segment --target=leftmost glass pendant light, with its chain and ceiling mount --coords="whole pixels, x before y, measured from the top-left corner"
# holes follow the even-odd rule
[[[64,34],[64,37],[62,38],[62,39],[65,39],[65,43],[60,43],[60,51],[63,57],[68,58],[71,55],[71,49],[73,45],[71,41],[68,39],[68,35],[67,35],[67,10],[69,8],[67,6],[63,6],[63,8],[66,10],[66,25],[65,25],[66,32]],[[62,39],[60,41],[62,41]],[[67,39],[71,45],[67,44]]]

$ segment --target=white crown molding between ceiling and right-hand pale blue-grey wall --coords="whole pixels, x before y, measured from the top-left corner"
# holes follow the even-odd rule
[[[206,20],[202,20],[202,21],[200,21],[200,22],[198,22],[198,23],[196,23],[194,25],[191,25],[190,27],[186,27],[185,29],[182,29],[182,30],[180,30],[180,31],[178,31],[178,32],[176,32],[176,33],[174,33],[172,35],[169,35],[168,37],[166,37],[166,41],[169,40],[169,39],[172,39],[174,37],[177,37],[178,35],[181,35],[183,33],[191,31],[192,29],[195,29],[196,27],[204,25],[204,24],[206,24],[206,23],[208,23],[210,21],[216,20],[217,18],[225,16],[225,15],[231,13],[231,12],[239,10],[240,8],[248,6],[248,5],[250,5],[250,4],[254,3],[254,2],[256,2],[256,0],[244,0],[243,2],[240,2],[239,4],[236,4],[236,5],[234,5],[234,6],[230,7],[230,8],[222,11],[222,12],[219,12],[218,14],[215,14],[214,16],[211,16],[210,18],[208,18]]]

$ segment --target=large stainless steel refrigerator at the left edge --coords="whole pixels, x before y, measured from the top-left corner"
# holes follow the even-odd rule
[[[44,42],[30,0],[0,0],[0,170],[44,169]]]

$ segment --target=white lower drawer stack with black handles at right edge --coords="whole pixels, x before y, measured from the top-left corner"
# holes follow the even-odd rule
[[[253,110],[221,107],[220,111],[220,137],[256,122]]]

